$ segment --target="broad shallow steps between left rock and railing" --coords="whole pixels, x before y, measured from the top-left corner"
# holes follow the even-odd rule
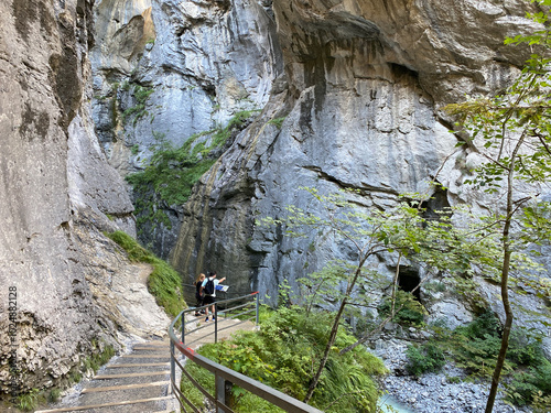
[[[84,384],[78,399],[58,409],[35,413],[168,413],[177,411],[170,394],[169,341],[138,344],[132,352],[111,360]]]

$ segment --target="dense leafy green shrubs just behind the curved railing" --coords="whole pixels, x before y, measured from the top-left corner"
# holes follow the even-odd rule
[[[205,345],[198,352],[302,400],[312,379],[313,366],[321,358],[327,341],[332,314],[306,313],[292,306],[263,312],[261,318],[258,333],[241,332],[229,341]],[[339,329],[335,348],[354,341],[355,338],[344,328]],[[214,390],[213,379],[198,371],[203,369],[188,363],[188,370],[197,374],[199,382],[205,380],[205,387]],[[378,398],[372,377],[386,372],[382,362],[361,347],[344,356],[334,351],[311,404],[327,412],[372,412]],[[190,385],[187,379],[182,381],[181,388],[186,396],[195,396],[202,403],[202,394]],[[234,388],[234,400],[238,412],[281,412],[237,387]]]

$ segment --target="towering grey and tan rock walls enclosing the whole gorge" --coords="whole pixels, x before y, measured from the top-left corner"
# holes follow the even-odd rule
[[[468,184],[482,145],[451,132],[457,117],[444,107],[504,94],[534,53],[504,40],[545,29],[527,17],[544,8],[525,0],[2,0],[2,398],[66,388],[87,357],[166,334],[170,316],[137,275],[151,268],[108,237],[115,231],[170,262],[182,278],[176,294],[190,304],[196,276],[217,271],[236,296],[258,291],[276,306],[285,289],[290,302],[301,301],[300,280],[358,258],[350,242],[316,228],[298,238],[261,225],[283,219],[288,206],[327,217],[303,187],[352,191],[365,214],[390,211],[413,193],[424,195],[425,217],[465,205],[475,216],[501,211],[505,198]],[[536,193],[551,199],[548,183],[522,185],[518,198]],[[466,216],[452,222],[462,227]],[[515,324],[537,332],[551,360],[551,249],[529,249],[547,290],[511,289],[526,309]],[[466,326],[485,309],[505,320],[495,280],[474,271],[476,300],[466,300],[444,271],[401,260],[382,251],[365,268],[387,284],[400,270],[399,285],[414,291],[425,323]],[[375,304],[347,316],[353,330],[376,319],[391,294],[361,289]],[[328,297],[324,309],[336,302]],[[369,345],[403,372],[398,349],[425,338],[390,323]]]

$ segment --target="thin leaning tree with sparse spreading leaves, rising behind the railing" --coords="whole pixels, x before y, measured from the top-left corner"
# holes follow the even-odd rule
[[[475,254],[467,247],[468,243],[464,241],[464,233],[453,228],[447,215],[443,214],[442,219],[436,220],[422,218],[420,214],[422,211],[422,208],[420,208],[421,202],[419,199],[411,200],[413,195],[409,195],[409,203],[403,200],[396,208],[380,211],[359,208],[354,199],[357,195],[354,193],[325,196],[320,195],[314,188],[303,189],[307,191],[318,202],[322,211],[316,214],[313,209],[302,210],[295,206],[289,206],[285,218],[264,218],[258,222],[284,226],[287,233],[293,237],[324,233],[322,238],[326,238],[327,235],[333,235],[341,241],[344,240],[349,246],[353,246],[357,254],[354,264],[339,262],[335,265],[335,262],[333,262],[326,270],[326,273],[333,276],[331,285],[335,285],[335,281],[341,281],[345,282],[346,286],[342,294],[332,293],[332,295],[338,297],[337,308],[323,356],[304,398],[304,402],[307,403],[320,382],[329,354],[334,348],[345,309],[349,304],[353,304],[350,300],[355,294],[355,290],[357,290],[358,280],[363,280],[364,283],[375,283],[377,279],[381,278],[381,274],[376,271],[365,269],[366,262],[371,257],[381,252],[396,251],[398,254],[397,270],[392,281],[391,312],[390,316],[382,320],[381,325],[383,325],[392,319],[393,315],[401,308],[396,307],[395,297],[402,258],[414,258],[417,262],[422,262],[436,270],[445,268],[450,271],[467,271]],[[321,286],[313,289],[313,295],[320,294],[320,289]],[[307,308],[311,308],[311,305]],[[349,351],[360,343],[363,341],[358,340],[358,343],[343,351]]]

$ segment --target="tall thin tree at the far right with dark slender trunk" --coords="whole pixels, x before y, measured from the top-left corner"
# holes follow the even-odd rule
[[[536,2],[547,7],[551,4],[551,0]],[[529,15],[537,22],[547,23],[549,11]],[[542,53],[548,53],[551,45],[550,34],[551,31],[545,29],[528,36],[508,39],[506,43],[540,45]],[[517,80],[501,96],[471,99],[446,107],[449,113],[461,116],[460,123],[471,134],[469,143],[478,148],[485,159],[485,162],[476,167],[475,177],[466,183],[499,197],[505,194],[505,214],[499,215],[496,224],[501,228],[499,281],[506,316],[486,413],[494,409],[515,317],[509,297],[510,271],[515,251],[525,246],[515,244],[512,226],[517,222],[516,216],[526,211],[528,203],[536,206],[543,204],[538,198],[537,187],[538,184],[549,182],[551,177],[550,62],[547,57],[532,54]],[[521,193],[518,188],[519,181],[534,184],[533,193],[529,196]],[[549,222],[541,219],[537,219],[537,222],[532,227],[536,232],[549,231]],[[525,242],[527,240],[529,239],[526,237],[521,239]]]

